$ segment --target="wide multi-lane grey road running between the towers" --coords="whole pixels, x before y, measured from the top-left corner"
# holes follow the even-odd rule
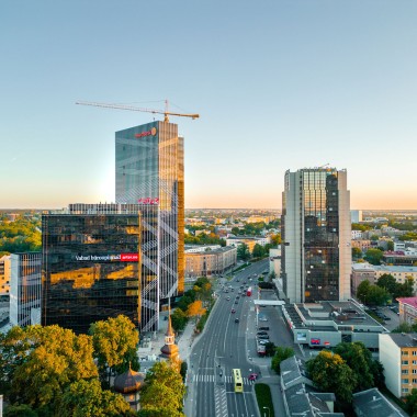
[[[247,267],[227,282],[228,293],[217,289],[218,300],[206,324],[204,334],[194,345],[190,365],[189,384],[192,383],[192,416],[206,417],[257,417],[258,405],[253,382],[248,381],[251,372],[259,373],[259,367],[248,360],[248,315],[253,311],[252,297],[241,295],[240,285],[253,273],[268,269],[268,259]],[[252,283],[256,283],[253,278]],[[253,285],[252,285],[253,286]],[[239,294],[240,293],[240,294]],[[236,296],[239,295],[237,304]],[[227,301],[227,297],[230,297]],[[232,309],[236,313],[232,313]],[[239,323],[235,323],[239,318]],[[253,340],[249,340],[253,342]],[[250,349],[249,349],[250,352]],[[235,393],[232,370],[238,368],[244,377],[244,393]]]

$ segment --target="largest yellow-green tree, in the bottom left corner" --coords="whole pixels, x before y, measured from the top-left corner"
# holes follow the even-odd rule
[[[76,336],[59,326],[29,326],[8,334],[3,343],[10,342],[26,348],[5,363],[12,402],[54,409],[69,384],[98,376],[92,340],[87,335]]]

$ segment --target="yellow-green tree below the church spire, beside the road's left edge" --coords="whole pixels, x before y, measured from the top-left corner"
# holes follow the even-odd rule
[[[140,393],[140,407],[144,410],[156,408],[182,412],[185,387],[181,374],[167,362],[157,362],[150,368]],[[156,405],[155,398],[158,398]],[[174,415],[174,414],[172,414]]]

